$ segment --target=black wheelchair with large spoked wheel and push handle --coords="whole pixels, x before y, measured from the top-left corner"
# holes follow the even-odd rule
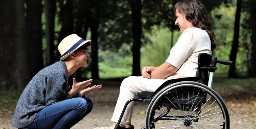
[[[142,129],[229,129],[228,108],[211,88],[213,73],[218,69],[216,63],[230,65],[232,61],[200,53],[196,76],[167,80],[155,92],[140,92],[138,98],[126,102],[115,129],[131,101],[149,103]]]

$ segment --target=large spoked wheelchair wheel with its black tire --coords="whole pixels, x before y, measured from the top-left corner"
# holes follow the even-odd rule
[[[147,129],[230,128],[228,109],[221,96],[201,83],[183,81],[166,86],[152,99]]]

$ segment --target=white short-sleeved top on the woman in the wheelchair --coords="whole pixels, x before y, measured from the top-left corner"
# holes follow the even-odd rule
[[[185,29],[166,59],[167,63],[179,70],[165,79],[196,76],[199,53],[212,54],[208,33],[200,28]]]

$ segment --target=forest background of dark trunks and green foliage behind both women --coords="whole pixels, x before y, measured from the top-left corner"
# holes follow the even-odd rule
[[[143,66],[164,63],[180,36],[173,11],[178,1],[1,1],[0,93],[21,93],[39,70],[59,60],[59,42],[73,33],[92,40],[77,80],[141,76]],[[216,76],[246,78],[255,86],[256,1],[200,2],[217,39],[213,56],[233,61],[218,65]]]

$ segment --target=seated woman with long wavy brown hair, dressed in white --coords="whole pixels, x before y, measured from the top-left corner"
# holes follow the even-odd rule
[[[114,129],[126,101],[135,98],[141,91],[154,92],[167,80],[192,77],[198,68],[198,54],[212,54],[216,39],[204,7],[196,0],[176,3],[174,12],[177,17],[175,25],[179,26],[181,36],[170,50],[170,55],[159,67],[145,66],[142,76],[129,76],[120,86],[120,94],[110,127],[97,129]],[[118,128],[134,128],[131,125],[134,101],[129,103]]]

